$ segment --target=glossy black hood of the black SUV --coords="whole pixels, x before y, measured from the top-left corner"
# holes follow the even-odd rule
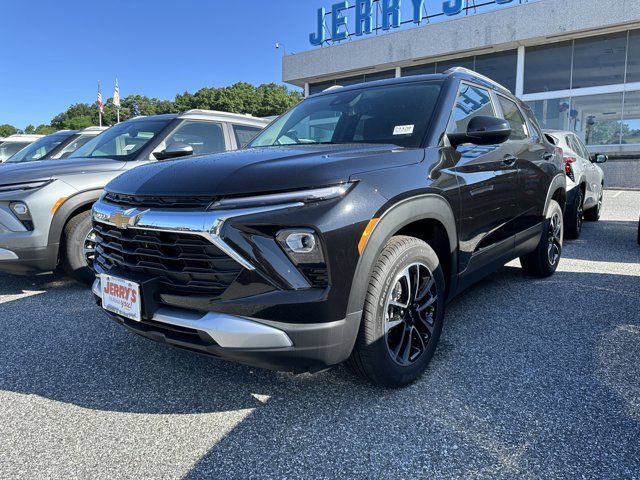
[[[296,145],[238,150],[135,168],[107,185],[141,196],[223,196],[327,186],[358,173],[418,163],[422,149]]]

